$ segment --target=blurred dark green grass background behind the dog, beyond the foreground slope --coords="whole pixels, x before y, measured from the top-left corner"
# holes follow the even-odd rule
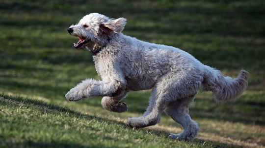
[[[0,93],[106,118],[140,116],[149,90],[130,93],[125,99],[129,111],[123,114],[103,110],[100,98],[64,99],[81,80],[100,79],[90,52],[75,50],[77,38],[67,32],[93,12],[124,17],[124,34],[178,47],[224,75],[249,71],[249,86],[238,101],[218,105],[211,93],[199,92],[190,114],[201,125],[198,139],[265,146],[264,0],[0,0]],[[181,131],[165,115],[159,126]]]

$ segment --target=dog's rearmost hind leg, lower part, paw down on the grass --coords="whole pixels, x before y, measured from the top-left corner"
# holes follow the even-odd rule
[[[168,138],[189,141],[196,137],[199,125],[188,114],[188,107],[192,101],[193,97],[185,98],[176,100],[166,106],[164,112],[184,128],[183,132],[179,134],[171,133]]]

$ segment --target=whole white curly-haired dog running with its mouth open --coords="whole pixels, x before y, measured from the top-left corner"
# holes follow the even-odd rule
[[[109,19],[91,13],[68,28],[79,38],[75,48],[89,49],[102,81],[86,79],[66,95],[69,101],[104,96],[102,106],[114,112],[127,111],[120,102],[130,90],[151,89],[149,106],[138,118],[128,118],[130,127],[148,127],[159,123],[164,111],[184,131],[169,138],[189,141],[196,137],[198,124],[188,114],[188,107],[201,87],[211,90],[217,102],[238,98],[247,87],[249,73],[224,77],[220,71],[202,64],[189,53],[175,47],[143,42],[122,34],[126,19]]]

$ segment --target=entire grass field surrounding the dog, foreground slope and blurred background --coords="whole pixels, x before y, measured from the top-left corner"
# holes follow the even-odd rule
[[[0,147],[265,147],[264,7],[263,0],[0,1]],[[226,75],[245,69],[249,87],[225,104],[199,92],[190,114],[200,132],[191,142],[167,139],[182,129],[166,115],[153,127],[126,127],[144,112],[149,90],[131,92],[120,114],[98,97],[67,102],[81,80],[100,79],[90,52],[75,50],[66,31],[92,12],[125,17],[124,34],[179,47]]]

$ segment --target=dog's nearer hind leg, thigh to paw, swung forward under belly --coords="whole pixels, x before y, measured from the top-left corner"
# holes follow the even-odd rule
[[[179,70],[162,76],[152,90],[149,106],[142,117],[128,118],[130,127],[148,127],[159,123],[161,112],[179,98],[194,97],[201,85],[201,77],[193,73],[185,75]],[[183,117],[190,119],[188,114]],[[191,119],[190,119],[191,120]]]

